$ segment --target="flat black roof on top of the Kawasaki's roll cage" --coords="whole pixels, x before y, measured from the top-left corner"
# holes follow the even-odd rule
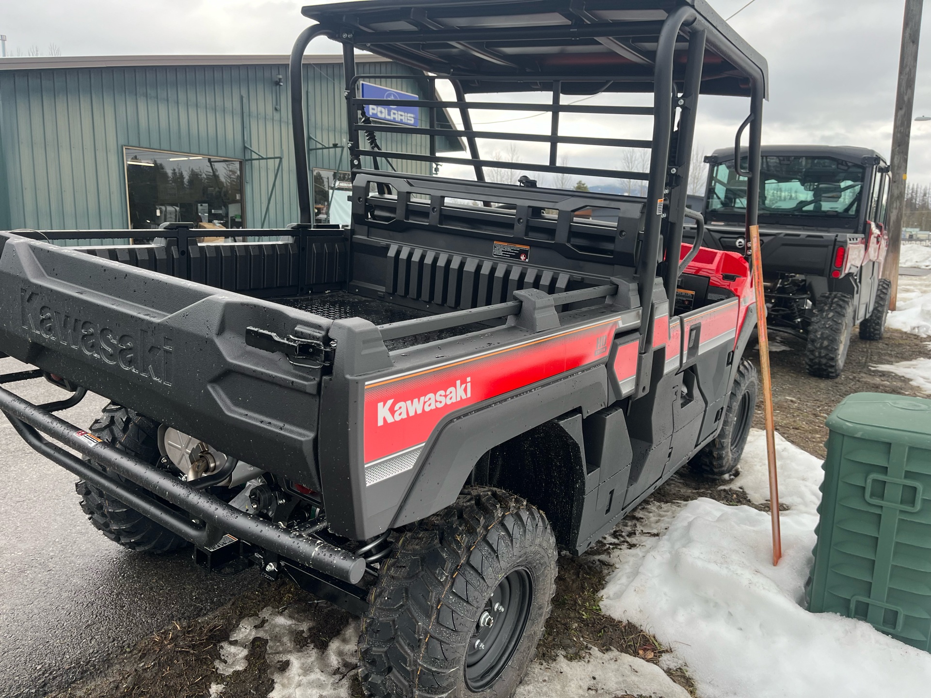
[[[587,94],[652,91],[659,32],[681,7],[708,29],[703,93],[749,95],[751,80],[767,88],[766,60],[705,0],[358,0],[303,13],[337,41],[432,73],[472,76],[462,81],[468,92],[510,91],[516,83],[501,82],[508,75],[521,80],[519,89],[534,75],[559,75],[569,78],[563,93]],[[677,44],[682,59],[686,48]],[[679,55],[675,65],[681,78]],[[592,87],[601,78],[605,84]]]

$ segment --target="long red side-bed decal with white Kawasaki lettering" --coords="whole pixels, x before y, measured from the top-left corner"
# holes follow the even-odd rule
[[[365,386],[365,463],[423,444],[450,412],[608,356],[617,320],[569,329]]]

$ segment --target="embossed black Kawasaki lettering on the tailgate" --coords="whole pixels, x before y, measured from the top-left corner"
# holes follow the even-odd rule
[[[39,293],[28,289],[20,289],[20,322],[22,329],[45,340],[42,343],[67,346],[156,383],[171,384],[169,337],[142,328],[127,332],[77,317],[49,305]]]

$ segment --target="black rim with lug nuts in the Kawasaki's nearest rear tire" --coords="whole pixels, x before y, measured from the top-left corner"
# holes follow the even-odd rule
[[[466,651],[466,686],[484,691],[501,676],[523,637],[533,600],[533,578],[514,570],[494,587]]]

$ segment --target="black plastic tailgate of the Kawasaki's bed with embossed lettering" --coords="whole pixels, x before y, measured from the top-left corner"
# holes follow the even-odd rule
[[[317,489],[320,368],[246,343],[331,321],[0,234],[0,351]]]

